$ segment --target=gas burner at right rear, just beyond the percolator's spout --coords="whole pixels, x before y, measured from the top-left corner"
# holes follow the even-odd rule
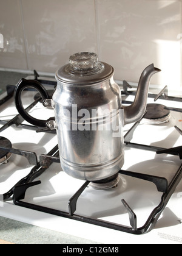
[[[163,124],[169,121],[170,111],[164,109],[164,105],[151,103],[147,104],[147,113],[144,115],[144,124]]]

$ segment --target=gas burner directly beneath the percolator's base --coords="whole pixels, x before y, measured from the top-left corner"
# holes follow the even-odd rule
[[[118,173],[116,173],[107,179],[90,182],[89,185],[90,187],[95,188],[95,190],[108,190],[109,188],[116,187],[119,181],[120,176]]]

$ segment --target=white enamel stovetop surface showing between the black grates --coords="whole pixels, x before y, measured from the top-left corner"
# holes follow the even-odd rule
[[[32,102],[32,100],[29,101],[32,94],[34,93],[25,93],[24,102],[27,105]],[[132,96],[127,100],[130,100],[130,98]],[[153,99],[148,99],[149,102],[153,102]],[[158,99],[157,103],[167,105],[167,107],[181,107],[181,102]],[[30,113],[38,118],[45,115],[47,118],[53,116],[53,110],[42,108],[41,103],[37,104]],[[1,120],[12,119],[17,114],[13,100],[0,107]],[[124,134],[131,126],[124,127]],[[174,126],[182,129],[182,113],[171,112],[168,123],[156,126],[146,125],[141,121],[133,133],[132,142],[161,148],[181,146],[182,136]],[[40,154],[47,154],[57,144],[56,135],[54,134],[36,133],[33,130],[14,126],[8,127],[0,135],[10,140],[13,148],[35,152],[38,158]],[[152,151],[133,149],[129,146],[125,148],[124,160],[123,170],[166,177],[169,181],[182,163],[182,160],[175,155],[157,155]],[[182,181],[178,184],[154,229],[143,235],[133,235],[20,207],[13,204],[12,197],[3,202],[2,194],[12,188],[19,179],[29,174],[32,168],[33,166],[27,162],[26,158],[14,154],[8,164],[0,166],[1,216],[79,236],[97,243],[182,243]],[[53,163],[35,180],[41,180],[41,184],[29,188],[23,201],[55,208],[56,210],[65,210],[66,212],[70,197],[84,183],[82,180],[67,176],[61,171],[59,163]],[[121,203],[121,199],[124,199],[137,216],[137,227],[141,227],[153,208],[159,204],[161,195],[162,193],[158,192],[151,182],[120,175],[120,182],[116,188],[106,191],[86,188],[78,199],[75,213],[130,226],[129,216]]]

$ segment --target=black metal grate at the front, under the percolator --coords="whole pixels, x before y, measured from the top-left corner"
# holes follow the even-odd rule
[[[58,154],[58,152],[57,152],[57,154]],[[49,166],[50,166],[51,156],[49,155],[48,158],[49,158]],[[55,159],[56,159],[56,162],[58,162],[57,157],[55,157],[55,158],[53,157],[52,162],[55,162],[54,161]],[[41,173],[43,171],[45,171],[45,169],[46,168],[43,168],[41,166]],[[37,172],[40,172],[40,171],[37,170]],[[35,173],[36,173],[36,171],[35,171]],[[89,185],[88,181],[85,182],[83,184],[83,186],[81,188],[79,188],[79,190],[76,191],[76,193],[73,194],[73,196],[68,201],[68,212],[63,212],[63,211],[56,210],[53,208],[47,208],[47,207],[43,207],[40,205],[30,204],[28,202],[21,201],[25,197],[25,192],[26,192],[27,188],[38,185],[39,183],[41,183],[41,181],[24,182],[24,180],[23,180],[23,182],[20,182],[19,184],[15,185],[15,187],[13,188],[13,202],[15,205],[19,205],[19,206],[22,206],[25,208],[38,210],[40,212],[50,213],[52,215],[62,216],[65,218],[75,219],[76,221],[87,222],[89,224],[94,224],[94,225],[98,225],[101,227],[107,227],[109,229],[115,229],[115,230],[119,230],[122,232],[133,233],[135,235],[141,235],[143,233],[149,232],[155,226],[158,218],[160,217],[161,213],[163,212],[164,208],[167,205],[167,202],[169,201],[170,197],[172,196],[172,194],[175,191],[175,188],[177,187],[178,183],[180,182],[180,180],[182,178],[182,164],[181,164],[180,168],[178,168],[172,181],[169,184],[164,177],[152,176],[149,174],[141,174],[138,172],[130,172],[130,171],[124,171],[124,170],[120,170],[119,173],[122,175],[134,177],[136,179],[143,179],[143,180],[147,180],[149,182],[153,182],[153,183],[155,183],[157,190],[160,192],[163,192],[163,194],[161,196],[160,203],[158,204],[157,207],[155,207],[153,209],[152,213],[150,213],[150,215],[149,215],[149,218],[147,219],[144,226],[142,226],[142,227],[137,227],[136,215],[133,212],[132,208],[130,208],[129,204],[127,204],[127,202],[124,199],[121,199],[121,203],[124,205],[124,207],[126,208],[128,214],[129,214],[129,221],[130,221],[131,227],[126,227],[121,224],[115,224],[113,222],[103,221],[103,220],[99,220],[99,219],[87,218],[86,216],[75,215],[74,213],[76,211],[76,203],[77,203],[78,198],[81,195],[81,193],[83,193],[83,191]],[[34,177],[34,179],[35,179],[35,177]]]

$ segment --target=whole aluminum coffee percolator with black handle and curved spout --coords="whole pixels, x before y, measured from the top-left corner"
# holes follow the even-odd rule
[[[153,64],[144,69],[135,100],[126,107],[113,80],[113,67],[99,62],[95,53],[79,52],[56,72],[52,99],[38,81],[21,79],[15,88],[15,105],[29,123],[56,129],[64,172],[106,189],[116,185],[124,163],[123,126],[144,115],[150,78],[158,71]],[[24,110],[21,92],[27,87],[39,91],[45,107],[54,108],[55,120],[35,119]]]

